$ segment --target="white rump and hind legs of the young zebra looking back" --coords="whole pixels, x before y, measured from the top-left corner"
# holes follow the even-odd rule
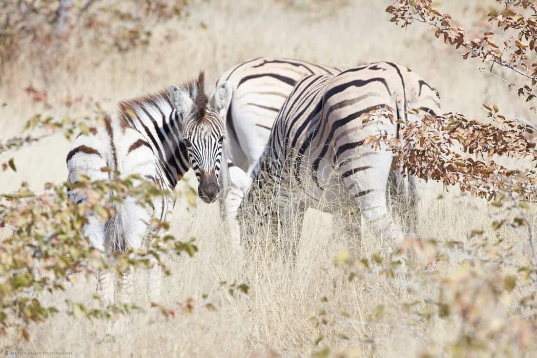
[[[159,164],[158,155],[155,155],[147,138],[132,127],[120,125],[120,121],[105,118],[104,126],[97,125],[88,135],[79,135],[71,148],[67,156],[70,182],[77,182],[78,175],[81,174],[91,180],[106,181],[111,172],[101,171],[101,168],[108,167],[119,170],[122,177],[138,174],[156,182],[161,189],[170,189],[163,166]],[[133,184],[139,185],[139,182]],[[86,197],[81,192],[72,191],[70,199],[79,203],[85,201]],[[113,204],[115,214],[108,221],[88,213],[88,223],[83,227],[83,234],[93,247],[108,254],[124,252],[129,248],[139,249],[147,233],[153,230],[150,226],[151,218],[166,221],[171,217],[171,197],[154,197],[151,204],[140,205],[134,198],[127,197],[123,203]],[[154,273],[153,270],[151,272]],[[159,273],[154,273],[149,280],[158,282],[159,277]],[[114,302],[114,282],[111,271],[99,272],[97,289],[106,305]],[[118,280],[117,299],[127,302],[132,297],[132,290],[132,273],[125,271]],[[150,291],[150,295],[154,299],[158,298],[153,291]]]

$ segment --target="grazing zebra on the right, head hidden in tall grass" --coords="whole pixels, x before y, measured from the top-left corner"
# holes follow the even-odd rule
[[[275,120],[241,208],[248,207],[262,222],[286,227],[292,220],[296,227],[302,225],[306,207],[333,212],[349,199],[376,232],[401,240],[401,227],[391,217],[386,197],[392,154],[368,147],[364,140],[381,133],[397,137],[400,123],[419,121],[424,112],[439,113],[436,91],[395,63],[304,77]],[[290,178],[304,195],[289,190]],[[274,210],[256,199],[267,183],[269,195],[275,188],[278,196]]]

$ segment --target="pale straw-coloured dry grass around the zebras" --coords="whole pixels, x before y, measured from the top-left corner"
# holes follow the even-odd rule
[[[58,65],[47,76],[42,75],[33,59],[24,59],[2,80],[0,104],[6,103],[0,108],[2,138],[17,133],[24,121],[37,112],[63,116],[88,111],[82,105],[70,109],[59,105],[67,96],[91,97],[113,112],[119,99],[182,82],[200,68],[206,69],[212,81],[235,63],[262,55],[334,64],[395,61],[436,85],[446,112],[460,111],[479,118],[483,113],[481,103],[497,103],[505,113],[529,113],[528,105],[508,92],[502,82],[477,70],[481,63],[462,61],[422,26],[404,31],[390,24],[389,16],[383,12],[389,2],[350,1],[343,8],[332,8],[331,4],[311,8],[308,2],[301,3],[302,7],[288,8],[271,0],[194,1],[184,23],[155,28],[156,39],[168,34],[169,28],[177,30],[171,44],[159,44],[157,40],[147,50],[128,55],[73,46],[67,53],[57,54]],[[446,3],[444,9],[455,17],[461,13],[457,6],[467,2]],[[28,85],[46,90],[51,108],[32,103],[24,91]],[[39,189],[47,181],[65,180],[68,147],[66,140],[55,137],[17,152],[18,171],[2,174],[2,191],[17,188],[21,181]],[[442,241],[477,240],[466,238],[474,228],[489,227],[487,206],[456,193],[438,200],[440,191],[436,185],[427,187],[420,206],[419,233]],[[115,326],[60,315],[32,328],[32,341],[18,349],[65,350],[95,357],[308,356],[319,349],[313,340],[320,331],[309,320],[318,310],[325,307],[347,311],[355,320],[364,321],[379,304],[389,307],[388,321],[394,324],[393,329],[347,324],[336,328],[352,340],[366,336],[376,336],[378,340],[356,345],[335,340],[333,344],[357,347],[361,354],[378,357],[417,356],[425,350],[442,356],[445,347],[458,338],[460,320],[437,319],[409,327],[398,319],[397,307],[412,299],[406,289],[411,278],[403,282],[347,282],[343,270],[332,263],[343,241],[334,234],[337,230],[332,230],[328,214],[308,211],[295,267],[263,255],[263,250],[246,263],[241,262],[231,249],[230,237],[222,234],[214,205],[200,202],[197,210],[190,213],[184,203],[178,203],[171,231],[179,239],[195,237],[199,253],[193,259],[184,257],[170,262],[172,276],[166,278],[163,303],[173,305],[185,302],[187,297],[203,302],[202,295],[207,293],[209,298],[216,297],[216,311],[201,308],[168,321],[158,315],[134,313],[121,318]],[[500,234],[507,244],[515,246],[516,255],[511,260],[528,264],[526,242],[509,231]],[[378,239],[366,234],[361,240],[360,255],[371,257],[378,247]],[[435,268],[440,274],[457,269],[456,261]],[[230,297],[221,292],[221,281],[246,282],[250,293]],[[93,280],[84,281],[68,288],[65,297],[48,299],[84,300],[94,288]],[[140,283],[140,291],[142,288]],[[328,303],[322,303],[322,297],[327,297]],[[143,292],[135,298],[142,304],[146,299]],[[111,336],[106,338],[108,333]]]

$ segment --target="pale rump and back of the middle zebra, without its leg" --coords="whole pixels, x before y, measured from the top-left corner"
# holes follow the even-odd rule
[[[257,164],[274,119],[297,81],[312,74],[338,74],[346,68],[294,59],[256,58],[222,74],[216,85],[225,81],[233,89],[233,99],[225,112],[226,147],[233,164],[244,171]]]

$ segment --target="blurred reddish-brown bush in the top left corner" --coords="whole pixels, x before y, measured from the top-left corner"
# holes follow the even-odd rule
[[[0,4],[0,71],[19,57],[46,71],[66,44],[90,41],[100,51],[127,52],[148,45],[159,22],[178,19],[186,1],[17,0]]]

